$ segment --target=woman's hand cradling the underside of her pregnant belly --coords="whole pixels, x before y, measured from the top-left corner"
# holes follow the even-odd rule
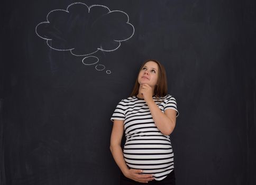
[[[129,169],[124,175],[125,177],[137,182],[147,183],[148,181],[153,180],[151,174],[140,174],[141,172],[142,170]]]

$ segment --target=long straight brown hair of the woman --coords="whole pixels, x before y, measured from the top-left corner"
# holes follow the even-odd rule
[[[162,66],[162,64],[159,61],[157,61],[157,60],[147,60],[140,67],[140,71],[142,70],[142,68],[145,65],[145,63],[147,63],[149,61],[156,62],[158,64],[158,70],[159,70],[158,71],[157,85],[154,88],[154,96],[156,96],[157,98],[164,97],[164,96],[167,95],[166,70],[164,69],[164,67]],[[139,78],[139,74],[138,74],[138,77],[136,78],[135,85],[133,87],[133,90],[132,90],[132,93],[131,93],[130,96],[136,96],[139,93],[140,84],[138,82],[138,78]]]

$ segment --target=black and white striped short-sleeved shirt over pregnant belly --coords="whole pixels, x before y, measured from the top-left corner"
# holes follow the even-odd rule
[[[166,109],[176,110],[174,97],[153,100],[164,112]],[[141,169],[143,174],[153,174],[155,180],[162,180],[174,169],[173,152],[169,135],[163,135],[154,124],[148,105],[144,99],[132,96],[122,99],[116,106],[111,120],[124,121],[125,144],[124,160],[130,169]]]

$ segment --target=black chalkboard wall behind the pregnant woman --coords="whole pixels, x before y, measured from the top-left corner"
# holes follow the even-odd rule
[[[255,184],[254,1],[5,1],[0,184],[118,184],[110,117],[167,70],[178,185]]]

